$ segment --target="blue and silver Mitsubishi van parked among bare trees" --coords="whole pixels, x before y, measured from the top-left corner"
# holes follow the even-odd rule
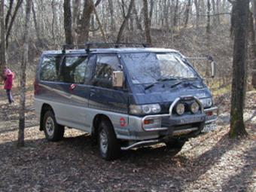
[[[65,127],[82,130],[103,159],[113,160],[120,150],[157,143],[179,151],[188,139],[215,129],[218,108],[187,58],[143,45],[86,44],[42,53],[35,110],[46,139],[61,140]]]

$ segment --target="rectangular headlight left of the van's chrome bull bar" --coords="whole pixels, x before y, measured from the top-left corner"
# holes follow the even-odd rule
[[[159,104],[130,105],[130,114],[157,114],[161,111]]]

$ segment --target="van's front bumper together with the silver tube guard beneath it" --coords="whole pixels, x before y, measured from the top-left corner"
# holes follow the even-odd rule
[[[164,142],[171,138],[184,138],[198,136],[203,133],[205,126],[214,123],[217,120],[217,107],[207,108],[200,115],[187,115],[182,117],[172,117],[170,114],[150,115],[145,117],[130,117],[130,124],[136,125],[133,130],[133,138],[128,146],[122,147],[122,150],[138,148],[145,145],[153,145]],[[208,115],[211,114],[211,115]],[[194,118],[191,118],[194,116]],[[150,126],[144,125],[144,120],[154,118]]]

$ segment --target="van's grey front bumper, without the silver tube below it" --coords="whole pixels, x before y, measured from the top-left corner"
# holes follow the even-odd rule
[[[204,109],[200,114],[184,114],[179,117],[172,114],[157,114],[145,117],[130,116],[129,132],[131,138],[128,140],[142,141],[159,139],[164,136],[197,136],[205,125],[217,120],[216,111],[218,111],[218,108],[212,107]],[[154,120],[154,123],[145,124],[145,120]]]

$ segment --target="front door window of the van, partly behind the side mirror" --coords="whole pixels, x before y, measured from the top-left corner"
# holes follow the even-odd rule
[[[121,70],[120,62],[117,56],[98,55],[93,85],[98,87],[113,88],[112,72],[115,70]]]

